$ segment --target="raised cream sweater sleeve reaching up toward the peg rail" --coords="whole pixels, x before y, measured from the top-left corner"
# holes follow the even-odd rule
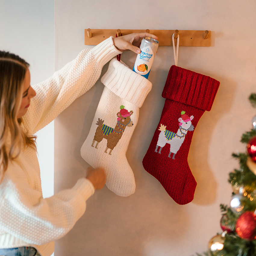
[[[30,135],[36,133],[58,116],[76,98],[87,92],[99,79],[102,67],[121,52],[115,48],[113,37],[94,48],[85,49],[75,60],[53,76],[33,86],[36,96],[23,117]]]

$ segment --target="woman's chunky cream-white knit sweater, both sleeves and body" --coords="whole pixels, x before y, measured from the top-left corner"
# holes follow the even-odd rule
[[[98,80],[102,67],[120,54],[112,37],[78,57],[48,80],[33,86],[22,128],[32,135],[50,123]],[[33,246],[42,256],[54,251],[54,240],[64,236],[83,215],[86,200],[94,193],[92,183],[81,178],[72,189],[50,198],[42,197],[36,151],[24,148],[9,162],[0,184],[0,248]]]

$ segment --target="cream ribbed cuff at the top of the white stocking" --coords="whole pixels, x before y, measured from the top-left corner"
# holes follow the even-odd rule
[[[117,96],[139,108],[152,88],[151,82],[116,58],[110,61],[101,82]]]

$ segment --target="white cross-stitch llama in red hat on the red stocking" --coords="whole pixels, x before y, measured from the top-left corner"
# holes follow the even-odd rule
[[[170,144],[170,153],[168,155],[171,158],[171,153],[173,153],[172,159],[175,159],[175,155],[180,149],[180,146],[185,140],[185,136],[188,131],[193,131],[195,127],[192,125],[191,120],[193,120],[194,116],[188,116],[185,114],[185,111],[181,111],[181,117],[178,119],[179,121],[179,129],[177,133],[166,130],[166,126],[163,124],[160,125],[159,131],[160,134],[158,136],[158,142],[155,148],[155,152],[161,154],[162,148],[166,145],[166,143]],[[159,151],[158,147],[160,147]]]

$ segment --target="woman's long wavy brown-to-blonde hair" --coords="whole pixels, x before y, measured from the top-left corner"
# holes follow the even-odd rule
[[[22,118],[17,118],[28,67],[18,55],[0,51],[0,180],[23,147],[36,149],[36,136],[28,136],[21,129]]]

